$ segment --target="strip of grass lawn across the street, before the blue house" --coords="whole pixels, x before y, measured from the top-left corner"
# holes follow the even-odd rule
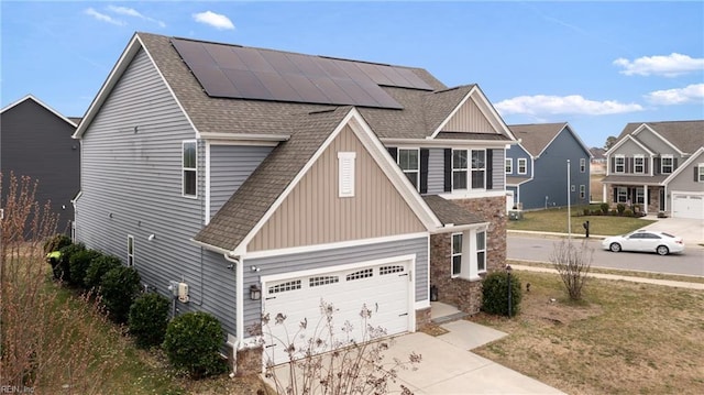
[[[596,209],[597,206],[592,206]],[[642,228],[654,221],[634,217],[583,216],[584,207],[572,207],[572,233],[584,234],[582,223],[590,221],[590,233],[602,235],[624,234]],[[542,232],[568,232],[568,209],[554,208],[524,212],[524,219],[508,221],[509,230],[535,230]]]

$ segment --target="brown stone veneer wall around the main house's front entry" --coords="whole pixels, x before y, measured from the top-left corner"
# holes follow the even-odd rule
[[[493,272],[506,264],[506,199],[502,197],[453,200],[490,222],[486,240],[486,268]],[[430,283],[438,287],[438,300],[476,314],[482,306],[482,282],[452,278],[451,233],[430,235]]]

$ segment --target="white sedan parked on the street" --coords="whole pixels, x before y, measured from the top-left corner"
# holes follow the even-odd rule
[[[604,250],[657,252],[660,255],[684,251],[682,238],[652,230],[637,230],[628,234],[614,235],[602,241]]]

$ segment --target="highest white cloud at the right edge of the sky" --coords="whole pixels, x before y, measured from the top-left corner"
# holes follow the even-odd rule
[[[635,61],[618,58],[614,65],[624,69],[618,72],[627,76],[664,76],[676,77],[682,74],[704,70],[704,58],[692,58],[688,55],[672,53],[670,55],[644,56]]]

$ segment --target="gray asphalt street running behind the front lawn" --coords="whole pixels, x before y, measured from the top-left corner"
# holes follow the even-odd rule
[[[558,242],[560,239],[509,234],[507,257],[549,263],[554,244]],[[575,239],[574,242],[581,243],[582,240]],[[588,240],[587,246],[594,249],[593,267],[704,276],[704,248],[701,246],[690,246],[682,254],[666,256],[656,253],[604,251],[601,240],[595,239]]]

